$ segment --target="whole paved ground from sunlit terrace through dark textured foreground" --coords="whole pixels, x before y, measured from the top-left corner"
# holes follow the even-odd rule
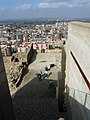
[[[55,64],[49,78],[39,81],[36,73],[45,72],[45,66]],[[16,91],[13,99],[17,120],[58,120],[66,118],[66,113],[60,113],[56,99],[58,72],[61,71],[61,51],[38,53],[36,60],[29,65],[29,71]],[[52,80],[54,87],[49,87]]]

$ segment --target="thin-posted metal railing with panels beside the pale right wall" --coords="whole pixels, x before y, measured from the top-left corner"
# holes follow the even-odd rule
[[[66,89],[73,119],[90,120],[90,94],[74,88]]]

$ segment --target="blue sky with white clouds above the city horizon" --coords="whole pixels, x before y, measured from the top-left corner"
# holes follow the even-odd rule
[[[0,20],[90,18],[90,0],[0,0]]]

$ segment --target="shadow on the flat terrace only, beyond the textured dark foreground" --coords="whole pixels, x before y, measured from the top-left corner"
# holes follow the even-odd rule
[[[39,81],[36,77],[16,92],[15,97],[55,98],[57,81],[52,80],[54,87],[48,88],[50,79]]]

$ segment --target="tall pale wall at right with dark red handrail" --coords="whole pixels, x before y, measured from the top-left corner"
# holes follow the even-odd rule
[[[66,86],[72,119],[89,120],[90,24],[71,22],[68,28]]]

